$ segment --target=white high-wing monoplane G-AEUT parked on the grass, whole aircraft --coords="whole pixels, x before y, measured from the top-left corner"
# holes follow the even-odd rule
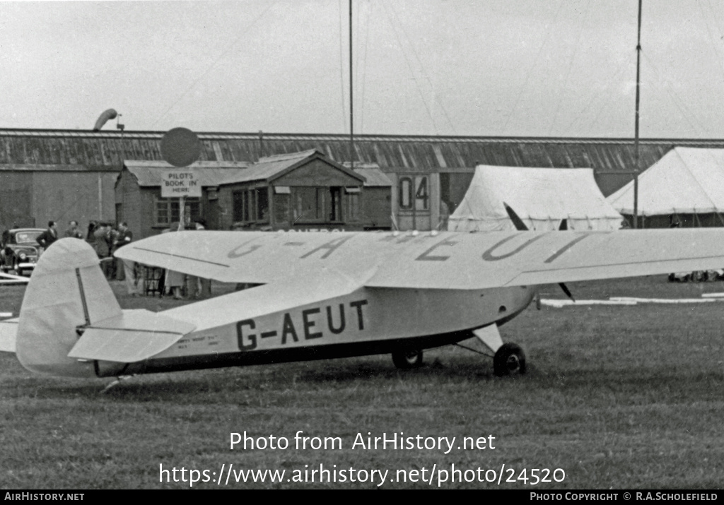
[[[20,318],[0,349],[37,373],[120,377],[391,353],[477,336],[497,375],[525,357],[497,326],[537,284],[724,266],[724,229],[621,232],[178,232],[123,247],[119,258],[204,279],[259,284],[152,313],[122,310],[85,242],[41,257]]]

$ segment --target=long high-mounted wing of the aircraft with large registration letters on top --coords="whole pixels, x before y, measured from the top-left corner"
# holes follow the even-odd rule
[[[266,284],[334,272],[366,287],[488,289],[722,268],[724,229],[620,232],[177,232],[117,255]]]

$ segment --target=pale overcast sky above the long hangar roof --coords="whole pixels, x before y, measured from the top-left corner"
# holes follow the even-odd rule
[[[633,136],[637,0],[354,0],[355,132]],[[348,0],[0,1],[0,128],[349,132]],[[724,137],[724,2],[644,0],[642,137]],[[115,121],[105,129],[114,129]]]

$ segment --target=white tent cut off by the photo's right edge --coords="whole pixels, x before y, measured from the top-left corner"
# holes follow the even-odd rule
[[[633,181],[609,195],[633,214]],[[673,148],[639,174],[639,216],[724,212],[724,149]]]

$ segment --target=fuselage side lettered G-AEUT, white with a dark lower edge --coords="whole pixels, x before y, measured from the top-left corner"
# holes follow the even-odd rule
[[[251,297],[255,289],[243,294]],[[470,338],[475,328],[510,320],[529,305],[534,294],[535,287],[363,287],[324,302],[251,318],[243,317],[243,304],[235,302],[229,305],[230,311],[239,313],[235,321],[193,331],[148,360],[128,364],[97,361],[96,375],[261,365],[439,347]],[[215,300],[218,304],[224,297]],[[198,305],[193,305],[194,312],[203,314],[203,307]],[[194,314],[184,312],[183,307],[164,315],[190,322],[194,319]]]

